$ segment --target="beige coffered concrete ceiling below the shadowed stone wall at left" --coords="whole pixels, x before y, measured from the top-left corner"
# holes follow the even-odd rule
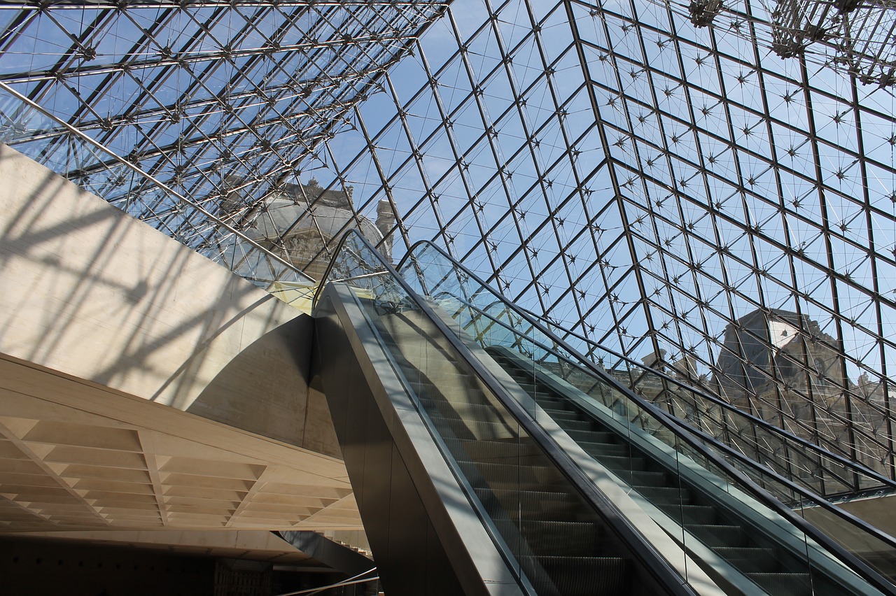
[[[336,458],[0,359],[0,532],[360,527]]]

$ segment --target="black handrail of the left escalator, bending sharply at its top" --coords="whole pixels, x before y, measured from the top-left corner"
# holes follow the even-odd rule
[[[538,445],[544,449],[547,458],[557,466],[557,469],[563,473],[564,476],[573,482],[573,485],[578,490],[581,491],[582,497],[589,502],[590,507],[594,507],[594,509],[607,520],[607,523],[619,532],[625,543],[632,548],[633,556],[642,558],[644,568],[656,575],[659,582],[668,588],[670,594],[673,594],[674,596],[697,596],[696,592],[694,592],[694,589],[687,583],[686,579],[679,575],[669,562],[659,555],[650,542],[643,538],[641,532],[638,532],[633,524],[621,515],[616,510],[616,507],[614,507],[613,504],[594,487],[592,481],[582,469],[572,461],[563,449],[556,445],[556,442],[549,434],[547,434],[546,430],[542,429],[536,421],[531,419],[529,413],[526,412],[522,404],[511,396],[506,388],[495,379],[493,373],[479,361],[467,345],[463,344],[460,337],[458,337],[451,328],[444,323],[444,320],[435,314],[435,311],[426,304],[426,300],[423,300],[417,292],[410,287],[404,277],[401,277],[401,274],[393,268],[378,251],[376,251],[374,245],[370,243],[370,241],[357,230],[349,230],[340,240],[338,251],[334,252],[334,255],[338,256],[340,254],[341,249],[350,235],[356,235],[363,245],[375,252],[377,258],[381,261],[381,265],[383,265],[386,271],[392,275],[398,285],[401,286],[401,289],[409,295],[409,298],[416,303],[420,311],[426,315],[426,318],[430,319],[430,322],[438,328],[445,340],[459,355],[461,361],[470,366],[470,369],[475,372],[478,379],[482,381],[488,390],[491,391],[501,404],[513,415],[516,421],[520,423],[522,429],[525,430],[531,438],[535,439]],[[335,259],[336,258],[334,257],[333,261]],[[326,283],[331,268],[332,261],[331,267],[327,268],[326,274],[322,277],[322,287]],[[315,306],[319,296],[320,292],[314,296]]]

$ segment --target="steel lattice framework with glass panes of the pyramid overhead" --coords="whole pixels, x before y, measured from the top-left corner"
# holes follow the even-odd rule
[[[342,227],[386,201],[396,258],[435,239],[607,368],[596,345],[892,475],[893,14],[4,4],[4,140],[264,280],[290,270],[241,239],[266,198],[350,187]]]

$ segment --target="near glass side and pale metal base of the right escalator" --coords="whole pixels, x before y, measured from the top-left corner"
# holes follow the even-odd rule
[[[552,438],[572,439],[726,590],[781,596],[896,591],[631,392],[597,373],[571,385],[565,372],[576,367],[576,354],[533,341],[526,332],[540,331],[531,321],[444,253],[412,249],[400,269],[435,312],[492,354],[504,382],[526,394],[530,415]]]

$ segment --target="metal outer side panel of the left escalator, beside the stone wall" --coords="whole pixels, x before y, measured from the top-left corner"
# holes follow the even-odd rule
[[[320,368],[313,372],[323,383],[386,592],[520,595],[469,504],[444,506],[446,498],[459,503],[462,491],[427,444],[426,428],[407,395],[400,395],[401,383],[382,352],[377,355],[379,346],[365,337],[371,331],[363,314],[338,294],[332,288],[318,306]]]

